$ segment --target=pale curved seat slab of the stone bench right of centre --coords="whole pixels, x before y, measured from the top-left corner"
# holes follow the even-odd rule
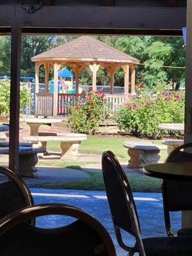
[[[152,143],[152,141],[133,141],[127,140],[123,143],[125,148],[131,148],[134,150],[141,150],[141,151],[155,151],[155,150],[163,150],[166,149],[164,145],[156,145]]]

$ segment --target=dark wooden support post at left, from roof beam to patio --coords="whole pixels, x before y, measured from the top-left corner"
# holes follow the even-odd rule
[[[12,27],[11,86],[10,86],[10,148],[9,168],[19,173],[19,103],[21,29]]]

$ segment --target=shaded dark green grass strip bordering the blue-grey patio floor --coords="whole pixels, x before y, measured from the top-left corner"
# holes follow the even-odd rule
[[[133,192],[161,192],[161,180],[147,176],[129,176],[129,183]],[[31,188],[49,189],[77,189],[77,190],[105,190],[102,173],[90,173],[89,179],[72,182],[47,182],[29,185]]]

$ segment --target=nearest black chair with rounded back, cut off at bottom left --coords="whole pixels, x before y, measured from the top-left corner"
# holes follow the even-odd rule
[[[37,228],[24,222],[49,214],[77,220],[60,228]],[[106,228],[87,212],[64,204],[25,207],[1,219],[0,253],[1,256],[116,256]]]

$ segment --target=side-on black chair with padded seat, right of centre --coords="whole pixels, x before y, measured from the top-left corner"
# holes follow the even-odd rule
[[[136,252],[141,256],[192,255],[190,236],[141,238],[140,222],[129,182],[111,151],[102,154],[102,172],[116,237],[120,246],[129,252],[129,255]],[[134,246],[124,243],[121,229],[135,238]]]

